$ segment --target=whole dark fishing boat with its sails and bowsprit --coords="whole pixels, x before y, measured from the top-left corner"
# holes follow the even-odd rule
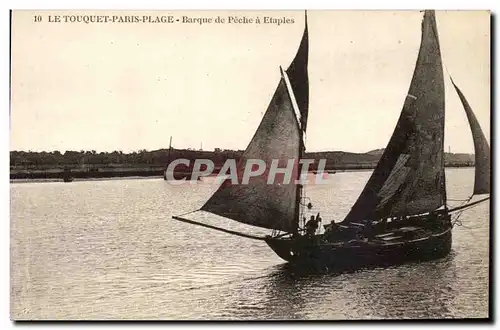
[[[371,178],[344,220],[324,226],[323,234],[304,228],[305,196],[300,184],[267,185],[255,177],[248,185],[228,180],[201,207],[245,224],[272,229],[258,237],[174,216],[176,220],[230,234],[264,240],[282,259],[294,264],[357,268],[440,258],[452,242],[451,215],[487,200],[472,196],[490,192],[490,151],[465,96],[460,96],[474,139],[476,175],[468,204],[447,206],[444,171],[444,77],[434,11],[425,11],[421,44],[401,116]],[[281,79],[257,131],[238,165],[247,159],[301,159],[306,132],[308,86],[307,17],[298,52]],[[300,165],[293,175],[299,178]],[[307,232],[306,232],[307,231]],[[306,233],[305,233],[306,232]]]

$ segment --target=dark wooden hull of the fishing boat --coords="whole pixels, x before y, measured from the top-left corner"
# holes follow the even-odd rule
[[[442,258],[451,250],[451,229],[449,226],[427,237],[395,243],[356,241],[335,244],[272,237],[267,237],[266,242],[279,257],[295,265],[352,270]]]

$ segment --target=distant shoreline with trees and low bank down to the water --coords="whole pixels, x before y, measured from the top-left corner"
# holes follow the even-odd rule
[[[315,162],[309,167],[317,169],[319,160],[326,161],[326,171],[372,170],[376,167],[384,149],[358,154],[343,151],[308,152],[305,159]],[[242,150],[183,150],[160,149],[142,150],[134,153],[97,153],[96,151],[54,152],[10,152],[11,180],[62,180],[64,177],[79,179],[110,179],[126,177],[163,177],[165,166],[174,159],[187,159],[190,167],[179,165],[174,175],[186,176],[192,172],[196,159],[208,159],[215,165],[218,173],[227,159],[238,161]],[[474,155],[445,153],[446,167],[472,167]]]

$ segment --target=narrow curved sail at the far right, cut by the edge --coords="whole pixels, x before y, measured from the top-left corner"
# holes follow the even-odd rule
[[[490,193],[490,146],[484,136],[483,130],[477,121],[472,108],[467,102],[462,91],[451,80],[455,90],[462,101],[467,119],[469,120],[470,129],[472,131],[472,139],[474,140],[474,154],[475,154],[475,167],[476,174],[474,179],[474,195],[489,194]]]

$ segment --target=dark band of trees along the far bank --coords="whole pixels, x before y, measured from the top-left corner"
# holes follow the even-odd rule
[[[326,159],[326,168],[335,169],[343,165],[358,165],[370,168],[376,165],[383,150],[367,153],[350,153],[342,151],[312,152],[305,158]],[[113,167],[160,167],[166,166],[169,161],[178,158],[189,159],[191,164],[195,159],[210,159],[216,167],[222,166],[226,159],[238,160],[242,150],[202,151],[191,149],[160,149],[154,151],[139,150],[138,152],[123,153],[121,151],[96,152],[92,151],[59,151],[32,152],[11,151],[11,169],[56,169],[56,168],[113,168]],[[474,156],[470,154],[446,154],[447,166],[473,166]],[[314,169],[314,166],[312,167]]]

